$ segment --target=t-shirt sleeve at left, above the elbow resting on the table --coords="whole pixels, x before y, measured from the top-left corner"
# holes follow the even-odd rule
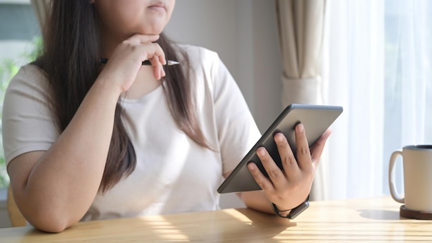
[[[48,150],[59,136],[48,106],[48,82],[36,66],[23,66],[6,90],[2,135],[6,164],[18,155]]]

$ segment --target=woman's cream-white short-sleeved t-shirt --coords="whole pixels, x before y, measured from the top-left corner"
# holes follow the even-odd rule
[[[104,195],[99,193],[83,220],[218,209],[222,174],[232,171],[259,139],[246,101],[217,53],[181,48],[192,67],[199,124],[214,150],[179,130],[161,86],[139,99],[120,99],[137,166]],[[48,150],[59,137],[46,90],[46,77],[36,66],[22,67],[12,79],[3,105],[6,163],[23,153]]]

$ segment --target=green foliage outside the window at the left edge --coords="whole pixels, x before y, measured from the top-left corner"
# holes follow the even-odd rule
[[[29,63],[35,61],[42,51],[42,39],[41,37],[36,37],[32,40],[32,48],[30,50],[24,50],[21,53],[21,59],[24,63]],[[3,108],[3,98],[8,88],[10,79],[17,74],[19,70],[19,64],[17,60],[3,59],[0,61],[0,101],[1,108]],[[1,128],[1,113],[0,113],[0,128]],[[6,172],[6,161],[3,153],[3,141],[0,139],[0,188],[7,187],[9,184],[9,176]]]

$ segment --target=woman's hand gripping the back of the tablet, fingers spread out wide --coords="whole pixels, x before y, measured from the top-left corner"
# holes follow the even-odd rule
[[[263,189],[268,200],[284,211],[299,206],[306,200],[311,191],[315,170],[320,162],[324,145],[331,130],[326,132],[313,144],[311,149],[306,139],[303,124],[295,126],[295,143],[297,146],[297,160],[282,133],[274,136],[277,150],[281,157],[283,170],[273,161],[264,147],[257,149],[257,155],[266,170],[266,177],[255,163],[249,163],[248,168],[257,184]]]

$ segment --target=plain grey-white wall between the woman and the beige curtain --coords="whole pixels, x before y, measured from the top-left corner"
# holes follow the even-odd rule
[[[219,53],[264,133],[282,110],[279,42],[274,1],[179,0],[166,34]],[[233,194],[222,207],[243,206]]]

